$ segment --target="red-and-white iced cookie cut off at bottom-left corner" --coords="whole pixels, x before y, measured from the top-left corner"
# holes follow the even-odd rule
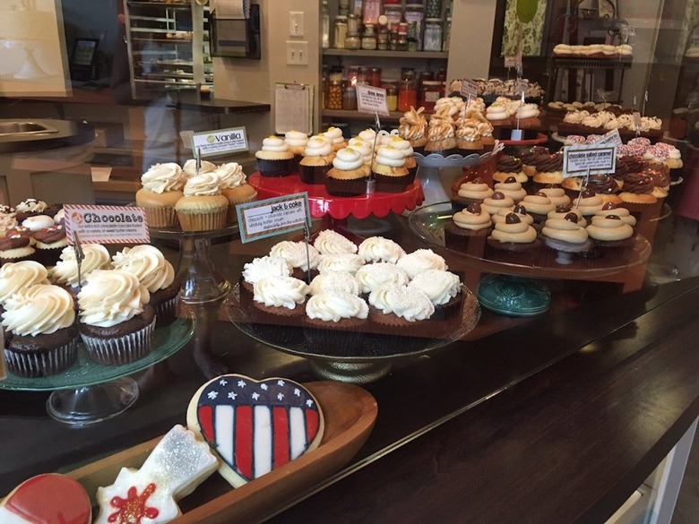
[[[46,473],[31,477],[15,487],[0,504],[0,522],[5,524],[89,524],[90,497],[73,478]]]

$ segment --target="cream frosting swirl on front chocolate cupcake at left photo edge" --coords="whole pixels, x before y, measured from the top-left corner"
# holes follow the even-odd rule
[[[34,284],[4,303],[3,326],[20,336],[48,335],[75,322],[73,297],[64,288]]]

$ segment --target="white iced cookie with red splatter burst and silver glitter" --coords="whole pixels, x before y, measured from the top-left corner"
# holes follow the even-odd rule
[[[95,524],[162,524],[181,514],[177,501],[211,476],[219,462],[206,442],[173,427],[140,469],[122,468],[114,484],[99,487]]]

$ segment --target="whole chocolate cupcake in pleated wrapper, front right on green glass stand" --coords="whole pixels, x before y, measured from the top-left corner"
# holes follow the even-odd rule
[[[125,365],[151,352],[155,310],[151,295],[126,271],[96,270],[78,294],[80,336],[101,365]]]

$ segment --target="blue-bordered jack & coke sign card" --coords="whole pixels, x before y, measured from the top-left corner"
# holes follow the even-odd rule
[[[243,243],[304,229],[311,223],[308,193],[238,204],[236,212]]]

